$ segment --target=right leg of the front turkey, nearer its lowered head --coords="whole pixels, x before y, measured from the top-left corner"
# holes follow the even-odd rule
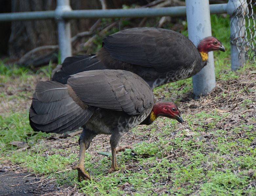
[[[116,163],[116,146],[121,138],[121,134],[118,131],[114,131],[110,137],[110,147],[112,153],[112,163],[111,167],[108,170],[108,173],[111,173],[114,170],[117,170],[117,163]]]

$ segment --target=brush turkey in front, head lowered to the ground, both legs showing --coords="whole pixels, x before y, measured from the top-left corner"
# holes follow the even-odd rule
[[[72,75],[68,84],[39,82],[30,107],[34,131],[62,134],[83,127],[79,138],[78,179],[90,179],[84,170],[85,150],[97,134],[111,134],[112,164],[117,168],[116,146],[123,134],[138,124],[151,124],[158,116],[183,122],[172,102],[157,102],[149,85],[125,70],[91,70]]]

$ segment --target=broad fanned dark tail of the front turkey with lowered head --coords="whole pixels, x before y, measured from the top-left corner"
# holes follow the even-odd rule
[[[84,110],[69,97],[66,85],[39,82],[33,94],[29,112],[34,131],[65,133],[83,126],[93,114],[93,108]]]

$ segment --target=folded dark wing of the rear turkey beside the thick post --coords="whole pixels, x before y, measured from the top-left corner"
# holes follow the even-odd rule
[[[190,67],[200,59],[196,46],[187,37],[163,28],[129,28],[109,35],[103,43],[113,59],[153,67],[157,72]],[[185,55],[186,51],[191,54]]]

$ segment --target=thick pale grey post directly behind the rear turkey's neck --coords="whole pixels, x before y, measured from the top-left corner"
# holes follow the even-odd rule
[[[211,36],[209,1],[186,0],[188,38],[198,45],[199,41]],[[193,94],[197,99],[215,87],[213,53],[208,54],[207,65],[192,77]]]

